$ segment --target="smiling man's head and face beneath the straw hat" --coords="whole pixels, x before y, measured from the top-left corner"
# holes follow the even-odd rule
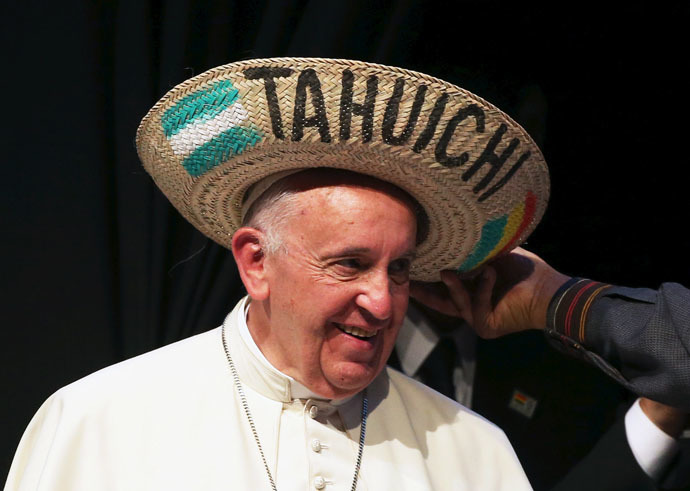
[[[269,189],[233,237],[252,299],[249,331],[278,370],[323,397],[348,397],[381,372],[407,309],[412,201],[333,169],[284,181],[279,199]],[[281,209],[282,223],[273,223]]]

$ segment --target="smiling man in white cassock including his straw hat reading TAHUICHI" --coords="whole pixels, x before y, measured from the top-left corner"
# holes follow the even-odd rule
[[[415,72],[250,60],[169,92],[137,145],[248,296],[53,395],[8,489],[529,489],[500,429],[385,368],[410,279],[472,270],[541,217],[517,124]]]

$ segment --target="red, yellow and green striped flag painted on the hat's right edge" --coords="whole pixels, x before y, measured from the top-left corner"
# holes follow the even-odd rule
[[[458,270],[470,271],[511,250],[531,223],[536,209],[537,197],[531,191],[527,191],[525,199],[510,213],[486,222],[482,227],[481,239]]]

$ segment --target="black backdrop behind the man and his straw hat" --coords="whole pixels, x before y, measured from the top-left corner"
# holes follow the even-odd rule
[[[3,2],[0,474],[54,390],[215,327],[242,294],[134,148],[167,89],[219,64],[355,58],[469,89],[549,163],[529,248],[570,274],[690,284],[687,2],[521,3]]]

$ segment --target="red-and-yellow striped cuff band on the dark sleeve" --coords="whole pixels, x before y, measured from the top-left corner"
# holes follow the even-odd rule
[[[611,288],[607,283],[572,278],[551,299],[547,311],[547,329],[578,343],[586,344],[587,314],[592,302]]]

